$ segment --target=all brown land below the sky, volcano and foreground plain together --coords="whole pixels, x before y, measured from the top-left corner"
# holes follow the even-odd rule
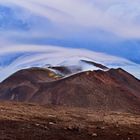
[[[121,68],[20,70],[0,83],[0,100],[0,140],[140,139],[140,81]]]

